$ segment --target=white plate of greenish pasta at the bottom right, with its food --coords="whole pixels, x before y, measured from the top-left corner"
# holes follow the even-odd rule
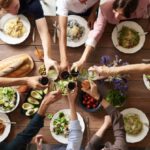
[[[128,143],[142,141],[149,131],[149,120],[146,115],[136,108],[128,108],[121,113],[123,114],[126,141]]]

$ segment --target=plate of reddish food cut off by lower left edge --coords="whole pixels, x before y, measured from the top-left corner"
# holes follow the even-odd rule
[[[10,129],[11,124],[7,114],[0,113],[0,142],[8,137]]]

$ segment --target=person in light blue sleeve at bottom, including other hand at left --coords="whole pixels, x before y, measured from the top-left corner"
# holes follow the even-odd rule
[[[77,88],[74,92],[68,94],[68,101],[70,107],[70,132],[68,137],[68,144],[66,145],[48,145],[42,144],[44,141],[43,135],[37,135],[35,138],[35,143],[37,144],[37,150],[80,150],[81,142],[83,138],[83,133],[81,131],[81,126],[77,117],[76,112],[76,96]]]

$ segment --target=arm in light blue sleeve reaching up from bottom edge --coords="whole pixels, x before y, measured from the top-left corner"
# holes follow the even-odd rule
[[[83,138],[83,133],[81,131],[81,126],[78,121],[77,112],[76,112],[76,100],[77,89],[75,89],[74,93],[69,93],[68,101],[71,112],[71,121],[70,121],[70,133],[68,139],[68,145],[66,150],[80,150],[81,142]]]

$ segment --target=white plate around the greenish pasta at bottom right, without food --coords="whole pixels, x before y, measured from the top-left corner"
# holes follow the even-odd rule
[[[146,117],[146,115],[139,109],[136,108],[128,108],[125,109],[121,112],[124,115],[129,114],[129,113],[134,113],[139,115],[141,122],[146,123],[147,125],[149,125],[149,120]],[[142,131],[138,134],[138,135],[129,135],[126,133],[126,141],[128,143],[136,143],[136,142],[140,142],[142,141],[146,135],[148,134],[149,128],[143,124],[143,129]]]

